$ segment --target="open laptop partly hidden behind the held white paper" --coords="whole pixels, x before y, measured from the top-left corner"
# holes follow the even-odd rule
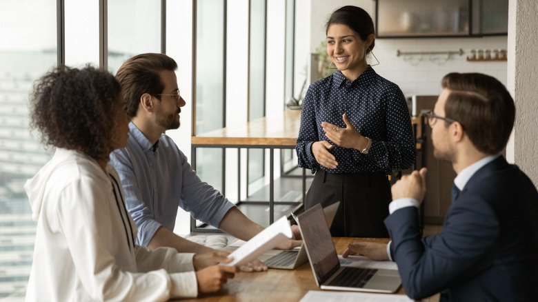
[[[332,219],[335,219],[336,212],[338,210],[338,205],[340,201],[328,205],[326,208],[323,208],[323,216],[327,222],[328,227],[332,224]],[[321,208],[321,205],[320,205]],[[264,253],[259,256],[259,260],[263,261],[268,268],[280,268],[283,270],[293,270],[299,265],[306,263],[308,261],[308,256],[306,255],[306,250],[304,248],[304,243],[299,249],[293,250],[270,250],[269,252]]]

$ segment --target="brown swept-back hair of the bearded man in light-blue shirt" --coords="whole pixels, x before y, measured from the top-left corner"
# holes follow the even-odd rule
[[[166,54],[139,54],[125,61],[116,73],[116,79],[127,102],[127,115],[137,115],[142,94],[148,93],[159,99],[156,94],[163,93],[164,89],[159,72],[176,69],[176,61]]]

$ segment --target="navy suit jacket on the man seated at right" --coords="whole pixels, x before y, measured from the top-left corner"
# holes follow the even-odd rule
[[[538,192],[504,157],[469,179],[440,234],[421,238],[415,207],[385,219],[403,288],[412,299],[538,301]]]

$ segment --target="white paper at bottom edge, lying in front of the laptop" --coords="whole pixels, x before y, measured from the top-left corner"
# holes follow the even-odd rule
[[[322,292],[310,290],[300,302],[413,302],[405,294],[368,294],[366,292]]]

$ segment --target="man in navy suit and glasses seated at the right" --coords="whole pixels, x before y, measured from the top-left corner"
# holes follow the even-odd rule
[[[423,168],[392,186],[385,219],[392,241],[353,243],[344,256],[396,261],[412,299],[441,292],[441,301],[537,301],[538,192],[499,154],[514,125],[514,101],[484,74],[447,74],[442,86],[428,114],[431,139],[435,157],[457,173],[443,230],[421,236]]]

